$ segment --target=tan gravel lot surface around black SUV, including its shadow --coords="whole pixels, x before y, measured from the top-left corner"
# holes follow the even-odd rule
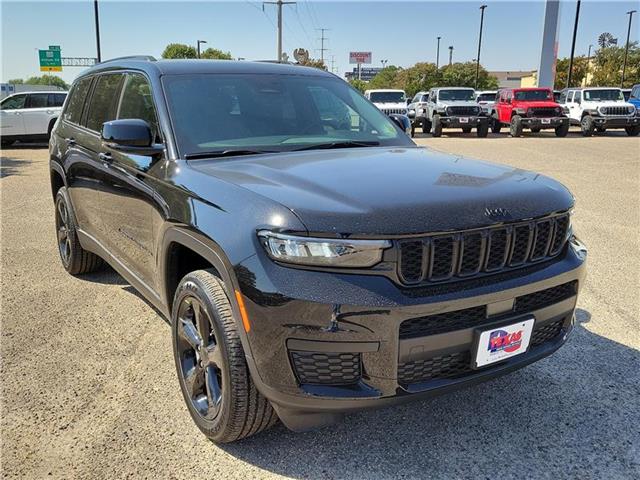
[[[167,323],[114,272],[60,265],[46,148],[5,150],[2,476],[640,478],[640,138],[417,141],[573,191],[589,274],[564,348],[444,397],[215,446],[183,404]]]

